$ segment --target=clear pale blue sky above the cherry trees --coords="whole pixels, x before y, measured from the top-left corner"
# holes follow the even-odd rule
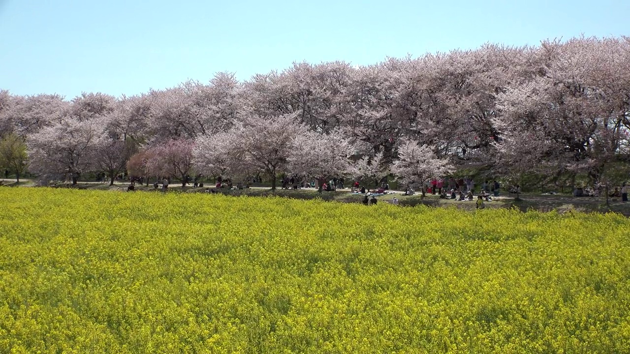
[[[630,34],[630,0],[0,0],[0,88],[138,94],[289,67]]]

